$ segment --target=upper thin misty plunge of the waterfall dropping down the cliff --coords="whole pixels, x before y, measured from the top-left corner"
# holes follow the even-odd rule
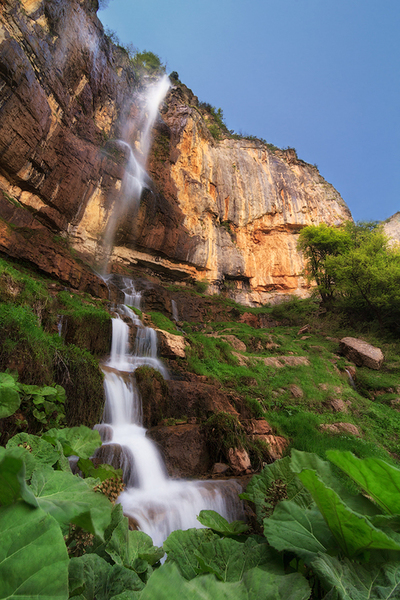
[[[146,172],[146,164],[151,147],[151,134],[158,115],[158,107],[170,88],[170,81],[164,75],[148,86],[144,96],[144,106],[138,118],[129,121],[124,128],[121,140],[114,144],[126,151],[126,166],[121,189],[115,199],[112,212],[102,240],[103,272],[107,271],[113,247],[115,232],[128,208],[137,212],[140,197],[145,187],[149,187],[151,179]]]

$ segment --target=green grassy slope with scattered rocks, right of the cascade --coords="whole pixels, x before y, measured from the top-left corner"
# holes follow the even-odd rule
[[[247,311],[247,307],[241,308]],[[386,361],[381,371],[357,368],[357,389],[353,389],[345,371],[351,363],[338,356],[337,338],[357,337],[357,331],[347,330],[337,315],[319,314],[314,300],[289,301],[264,311],[287,325],[265,330],[245,323],[218,322],[203,325],[199,332],[198,324],[184,324],[190,343],[187,368],[240,395],[254,416],[264,416],[277,434],[290,440],[290,447],[321,456],[329,448],[337,448],[361,457],[400,457],[400,413],[390,406],[391,400],[400,396],[399,344],[378,338],[376,331],[364,334],[363,339],[382,348]],[[299,328],[306,323],[309,329],[299,335]],[[363,324],[361,328],[364,331]],[[246,345],[246,352],[240,352],[246,364],[239,364],[234,354],[237,350],[224,338],[232,335]],[[268,356],[305,356],[310,364],[270,367],[259,360]],[[293,385],[301,389],[301,396],[293,395]],[[334,412],[331,401],[335,398],[346,403],[346,412]],[[319,429],[323,423],[341,421],[356,425],[362,437],[332,435]]]

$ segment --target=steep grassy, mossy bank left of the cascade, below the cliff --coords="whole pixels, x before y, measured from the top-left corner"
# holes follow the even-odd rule
[[[2,420],[1,442],[18,431],[97,423],[104,391],[95,357],[109,352],[111,340],[104,302],[1,259],[0,322],[0,372],[11,373],[22,394],[19,411]],[[39,402],[60,386],[62,402]]]

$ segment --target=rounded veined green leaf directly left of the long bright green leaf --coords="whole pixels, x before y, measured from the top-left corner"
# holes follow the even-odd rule
[[[294,552],[307,564],[318,552],[326,552],[336,543],[320,511],[301,508],[293,500],[281,502],[269,519],[264,519],[264,534],[277,550]]]

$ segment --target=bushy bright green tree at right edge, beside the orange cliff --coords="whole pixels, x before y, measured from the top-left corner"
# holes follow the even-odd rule
[[[389,245],[379,225],[305,227],[298,247],[325,304],[399,328],[400,248]]]

